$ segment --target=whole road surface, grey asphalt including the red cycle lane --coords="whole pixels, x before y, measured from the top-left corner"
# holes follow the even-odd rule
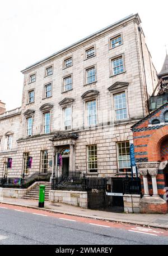
[[[0,244],[167,245],[168,232],[0,204]]]

